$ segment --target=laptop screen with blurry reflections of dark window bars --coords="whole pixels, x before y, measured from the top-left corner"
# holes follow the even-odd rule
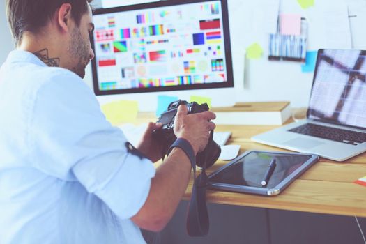
[[[309,119],[366,128],[366,51],[318,52]]]

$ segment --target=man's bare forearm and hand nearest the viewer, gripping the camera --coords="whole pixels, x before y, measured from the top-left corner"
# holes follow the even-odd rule
[[[174,120],[174,134],[176,137],[188,140],[197,154],[204,150],[210,136],[209,131],[215,128],[215,124],[210,122],[211,119],[215,119],[213,112],[188,114],[187,107],[181,105]],[[153,126],[153,123],[149,125],[150,131],[153,130]],[[146,133],[151,135],[148,130]],[[146,145],[149,146],[149,144]],[[160,153],[160,150],[157,151]],[[161,157],[161,155],[158,156]],[[190,181],[191,170],[190,160],[185,152],[181,148],[174,148],[169,157],[156,169],[155,177],[151,180],[148,198],[131,220],[143,229],[161,231],[174,215],[181,201]]]

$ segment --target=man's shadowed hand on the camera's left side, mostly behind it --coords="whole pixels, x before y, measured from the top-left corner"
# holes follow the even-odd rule
[[[162,158],[162,145],[153,139],[153,130],[159,130],[161,127],[162,123],[148,123],[146,131],[137,146],[137,149],[153,162]]]

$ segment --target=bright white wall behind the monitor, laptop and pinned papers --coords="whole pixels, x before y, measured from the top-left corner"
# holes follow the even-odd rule
[[[10,32],[6,25],[3,1],[0,0],[0,63],[13,48]],[[268,61],[267,35],[261,29],[263,6],[268,0],[228,0],[232,53],[234,61],[234,79],[236,99],[238,101],[290,100],[293,107],[307,106],[312,85],[312,73],[301,73],[299,63]],[[316,50],[325,45],[322,11],[328,6],[340,6],[344,3],[366,0],[315,0],[315,6],[307,10],[300,8],[296,0],[281,0],[282,13],[300,13],[309,23],[309,49]],[[100,4],[99,1],[96,2]],[[361,36],[365,40],[366,35]],[[358,36],[360,38],[360,36]],[[258,42],[264,47],[261,59],[246,60],[243,70],[245,48]],[[245,75],[244,75],[245,73]],[[87,68],[85,81],[91,86],[91,68]]]

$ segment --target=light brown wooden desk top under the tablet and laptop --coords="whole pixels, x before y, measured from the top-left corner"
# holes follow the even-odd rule
[[[149,116],[139,116],[146,121]],[[151,117],[150,117],[151,118]],[[150,121],[154,121],[150,120]],[[240,153],[248,150],[286,151],[250,141],[250,137],[276,126],[218,125],[215,131],[233,133],[228,144],[241,145]],[[208,174],[227,162],[218,161],[207,170]],[[357,215],[366,217],[366,187],[353,183],[366,175],[366,153],[347,160],[334,162],[321,158],[280,195],[265,197],[236,192],[208,190],[207,201],[218,204],[275,208],[311,213]],[[192,178],[183,199],[190,199]]]

